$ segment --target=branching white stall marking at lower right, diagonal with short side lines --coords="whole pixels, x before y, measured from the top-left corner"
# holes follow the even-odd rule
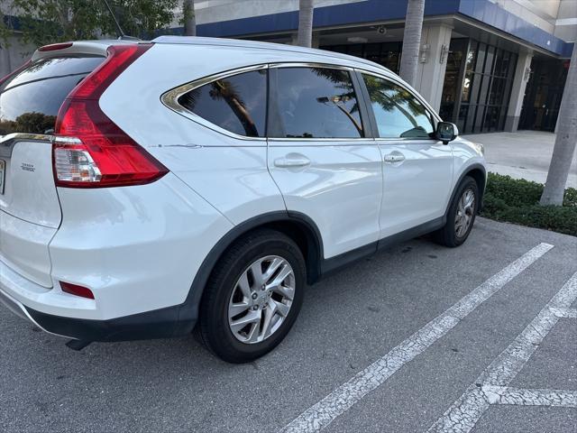
[[[570,306],[577,299],[577,272],[551,299],[545,308],[517,336],[515,341],[485,369],[459,400],[437,419],[429,432],[471,431],[491,404],[577,407],[577,392],[509,388],[545,336],[560,318],[573,318]]]

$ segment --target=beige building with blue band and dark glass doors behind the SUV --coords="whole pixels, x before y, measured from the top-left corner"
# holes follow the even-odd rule
[[[199,36],[296,41],[298,0],[195,7]],[[316,0],[313,45],[398,72],[406,11],[407,0]],[[554,131],[576,39],[577,0],[426,0],[416,88],[465,134]]]

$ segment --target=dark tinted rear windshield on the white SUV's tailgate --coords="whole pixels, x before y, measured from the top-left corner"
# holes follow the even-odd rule
[[[51,134],[64,99],[104,57],[55,57],[33,63],[0,87],[0,135]]]

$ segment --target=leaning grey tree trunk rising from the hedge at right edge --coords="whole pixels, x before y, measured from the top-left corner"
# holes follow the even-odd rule
[[[557,117],[557,137],[553,157],[541,196],[542,205],[563,205],[563,193],[575,153],[575,143],[577,143],[577,49],[573,47]]]

